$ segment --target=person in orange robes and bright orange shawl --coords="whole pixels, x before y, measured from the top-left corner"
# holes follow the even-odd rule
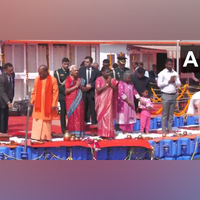
[[[52,119],[57,115],[58,84],[56,78],[49,75],[46,65],[38,68],[38,74],[31,94],[34,105],[31,139],[50,141]]]

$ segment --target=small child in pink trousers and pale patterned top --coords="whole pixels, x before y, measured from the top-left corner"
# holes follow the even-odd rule
[[[138,107],[142,110],[140,114],[140,131],[141,133],[149,133],[150,123],[151,123],[151,109],[153,108],[153,103],[151,99],[148,98],[148,90],[144,89],[142,92],[141,100],[146,103],[146,105],[142,105],[140,102]]]

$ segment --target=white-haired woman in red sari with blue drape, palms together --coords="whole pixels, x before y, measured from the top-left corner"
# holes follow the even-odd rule
[[[70,76],[65,81],[67,130],[76,137],[84,136],[84,101],[82,91],[86,91],[85,81],[78,78],[79,67],[72,65],[69,68]]]

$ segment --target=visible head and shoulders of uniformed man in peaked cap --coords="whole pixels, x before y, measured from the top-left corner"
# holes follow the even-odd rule
[[[129,68],[125,67],[126,65],[126,57],[119,55],[117,57],[118,59],[118,67],[116,67],[113,72],[114,72],[114,78],[116,78],[118,81],[121,80],[123,74],[125,71],[130,70]]]

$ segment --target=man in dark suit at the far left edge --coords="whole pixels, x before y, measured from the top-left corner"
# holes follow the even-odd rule
[[[9,108],[12,108],[15,88],[15,74],[11,63],[6,63],[0,75],[0,132],[8,131]]]

